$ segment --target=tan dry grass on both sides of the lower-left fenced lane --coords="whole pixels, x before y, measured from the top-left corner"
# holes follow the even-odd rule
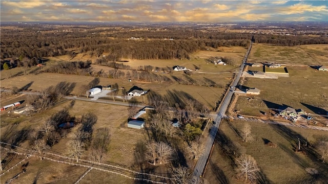
[[[59,103],[54,108],[46,110],[43,113],[34,114],[32,117],[26,117],[24,115],[15,116],[14,114],[2,113],[1,120],[4,122],[1,127],[2,140],[6,137],[5,134],[9,133],[9,131],[13,129],[15,131],[19,131],[37,128],[37,126],[46,121],[51,114],[63,109],[64,107],[67,107],[69,104],[69,100],[64,100],[63,103]],[[71,116],[75,116],[76,118],[80,118],[82,114],[87,112],[97,114],[98,121],[93,126],[93,129],[109,128],[111,135],[109,152],[104,157],[103,162],[115,163],[129,168],[134,164],[133,149],[135,144],[140,140],[146,142],[148,140],[148,134],[144,130],[135,130],[127,127],[127,109],[128,107],[125,106],[76,101],[74,106],[69,110],[69,113]],[[23,119],[20,122],[13,122],[16,117],[18,117],[18,119],[23,117]],[[14,123],[18,123],[18,125],[13,125]],[[68,134],[67,138],[62,139],[49,151],[56,154],[66,155],[66,143],[71,139],[72,134],[77,131],[79,127],[80,125],[72,128],[72,131]],[[28,147],[28,141],[23,142],[21,146]],[[82,158],[90,160],[89,152],[85,151]],[[13,159],[6,168],[10,168],[22,159],[23,158]],[[27,172],[16,180],[18,183],[20,181],[33,183],[33,180],[35,179],[38,182],[42,181],[42,183],[73,183],[86,171],[86,168],[57,164],[47,160],[40,161],[37,158],[30,158],[28,162],[29,166],[27,167]],[[4,175],[4,177],[1,178],[2,183],[13,177],[19,172],[19,170],[20,167],[17,167],[8,174]],[[91,174],[92,177],[89,176],[89,179],[86,177],[85,183],[90,182],[91,179],[93,180],[93,183],[108,183],[109,181],[115,181],[115,183],[133,183],[132,180],[127,178],[104,172],[91,171],[89,174]],[[99,176],[99,178],[95,176]],[[108,177],[113,180],[109,180]]]

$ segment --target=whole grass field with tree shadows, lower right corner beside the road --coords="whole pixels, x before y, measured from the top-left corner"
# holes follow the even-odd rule
[[[245,183],[237,177],[235,166],[231,163],[234,152],[249,154],[255,158],[262,173],[262,182],[258,183],[325,183],[328,175],[327,165],[312,155],[296,153],[297,137],[312,143],[316,137],[325,136],[325,131],[302,128],[278,127],[276,125],[249,122],[254,141],[244,143],[235,130],[241,131],[245,122],[222,122],[216,137],[213,152],[204,175],[209,183]],[[276,144],[277,147],[264,145],[264,139]],[[306,168],[315,168],[318,175],[310,175]]]

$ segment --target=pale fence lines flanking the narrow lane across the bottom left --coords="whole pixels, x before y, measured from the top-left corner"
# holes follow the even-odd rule
[[[4,143],[4,142],[0,142],[0,143],[5,144],[5,145],[9,145],[9,146],[13,146],[15,148],[23,149],[23,150],[26,150],[28,152],[31,152],[30,150],[27,150],[27,149],[24,149],[24,148],[20,148],[20,147],[15,146],[15,145],[11,145],[11,144]],[[5,149],[8,149],[8,148],[5,148]],[[19,152],[16,152],[16,151],[12,151],[12,152],[14,152],[16,154],[19,154],[19,155],[26,155],[25,153],[19,153]],[[66,156],[61,156],[61,155],[54,154],[54,153],[48,153],[48,152],[46,152],[45,154],[53,155],[53,156],[57,156],[57,157],[65,158],[65,159],[69,159],[69,160],[71,160],[71,159],[74,160],[74,158],[66,157]],[[53,162],[57,162],[57,163],[61,163],[61,164],[68,164],[68,165],[72,165],[72,166],[92,168],[92,169],[96,169],[96,170],[99,170],[99,171],[105,171],[105,172],[110,172],[110,173],[113,173],[113,174],[119,174],[121,176],[128,177],[128,178],[134,179],[134,180],[142,180],[142,181],[148,181],[148,182],[159,183],[159,184],[165,183],[165,182],[154,181],[154,180],[150,180],[150,179],[146,179],[146,178],[135,178],[135,177],[131,177],[131,176],[128,176],[126,174],[123,174],[123,173],[119,173],[119,171],[116,172],[116,171],[110,171],[110,170],[106,170],[106,169],[110,169],[112,167],[112,168],[116,168],[116,169],[119,169],[119,170],[131,172],[132,174],[139,174],[139,175],[142,175],[142,176],[153,176],[153,177],[156,177],[156,178],[167,179],[167,180],[176,180],[175,178],[158,176],[158,175],[148,174],[148,173],[140,173],[140,172],[136,172],[136,171],[132,171],[132,170],[126,169],[126,168],[121,168],[121,167],[117,167],[117,166],[113,166],[113,165],[108,165],[108,164],[103,164],[103,163],[96,163],[96,162],[92,162],[92,161],[89,161],[89,160],[83,160],[83,159],[79,159],[79,160],[81,162],[86,162],[86,163],[93,164],[93,165],[96,165],[96,166],[99,166],[99,167],[104,167],[104,168],[109,167],[109,168],[101,169],[101,168],[96,168],[96,167],[92,167],[92,166],[75,164],[75,163],[65,162],[65,161],[61,161],[61,160],[56,160],[56,159],[48,158],[48,157],[45,157],[45,156],[37,156],[37,155],[33,155],[33,154],[29,154],[29,156],[42,157],[44,159],[51,160]],[[122,172],[122,171],[120,171],[120,172]]]

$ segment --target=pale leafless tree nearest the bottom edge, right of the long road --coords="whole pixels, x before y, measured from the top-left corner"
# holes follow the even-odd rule
[[[254,181],[257,178],[259,168],[256,160],[251,155],[243,154],[236,159],[237,171],[245,180]]]

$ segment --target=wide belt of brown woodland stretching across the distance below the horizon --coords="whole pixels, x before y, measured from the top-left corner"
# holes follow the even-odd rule
[[[56,57],[70,54],[89,54],[99,57],[109,53],[112,61],[118,58],[131,59],[188,59],[189,55],[206,47],[224,46],[248,47],[252,34],[222,33],[217,31],[185,30],[168,28],[161,31],[121,31],[112,29],[112,33],[102,34],[101,30],[80,31],[71,28],[72,32],[36,31],[32,28],[22,30],[3,30],[1,32],[1,58],[12,58],[23,55],[33,57]],[[49,29],[51,31],[49,31]],[[85,29],[85,28],[84,28]],[[42,30],[38,28],[38,30]],[[55,34],[54,34],[55,33]],[[95,34],[96,33],[96,34]],[[108,39],[114,37],[115,39]],[[128,38],[144,38],[129,40]],[[164,40],[163,38],[173,39]],[[297,38],[297,39],[295,39]],[[258,34],[256,42],[277,45],[327,44],[328,39],[321,37],[272,36]]]

